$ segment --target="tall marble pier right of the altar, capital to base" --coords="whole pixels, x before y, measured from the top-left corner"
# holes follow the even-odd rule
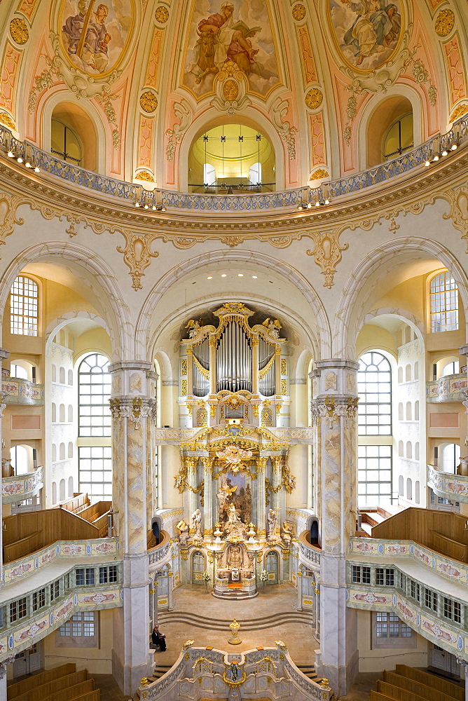
[[[356,611],[346,608],[346,554],[356,523],[357,362],[332,358],[315,364],[315,466],[321,523],[319,606],[323,622],[317,673],[336,695],[350,690],[358,671]]]

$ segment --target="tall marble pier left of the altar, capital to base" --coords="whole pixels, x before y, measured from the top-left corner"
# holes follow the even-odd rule
[[[123,555],[123,607],[113,614],[112,672],[125,695],[135,693],[142,677],[151,676],[154,668],[154,655],[149,649],[151,578],[146,552],[153,512],[152,505],[149,511],[146,496],[153,489],[148,480],[154,470],[151,365],[125,361],[109,366],[114,532]]]

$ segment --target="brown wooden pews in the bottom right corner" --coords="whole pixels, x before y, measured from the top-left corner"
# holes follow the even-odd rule
[[[384,672],[371,691],[371,701],[464,701],[464,688],[441,679],[436,674],[414,667],[397,665],[394,672]]]

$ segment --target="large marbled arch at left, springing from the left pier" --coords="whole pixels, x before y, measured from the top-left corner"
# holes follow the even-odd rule
[[[25,269],[29,263],[50,263],[67,268],[85,280],[93,304],[97,301],[97,295],[102,295],[102,301],[109,299],[111,304],[103,304],[102,312],[106,320],[106,327],[111,338],[114,353],[120,353],[116,360],[132,360],[129,355],[132,351],[132,322],[130,310],[123,298],[113,271],[98,257],[95,252],[74,243],[46,243],[38,244],[22,251],[8,266],[3,277],[4,283],[0,293],[0,315],[3,316],[10,294],[13,281]]]

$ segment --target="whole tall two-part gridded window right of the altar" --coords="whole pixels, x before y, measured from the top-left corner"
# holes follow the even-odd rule
[[[385,355],[364,353],[357,373],[358,423],[361,440],[357,451],[358,504],[378,505],[392,499],[392,368]],[[388,444],[372,444],[372,437],[388,436]],[[367,444],[366,444],[367,443]]]

